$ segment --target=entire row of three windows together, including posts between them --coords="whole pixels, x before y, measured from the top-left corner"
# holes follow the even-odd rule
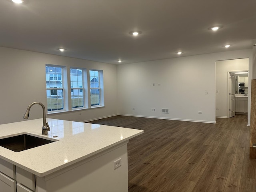
[[[102,70],[46,64],[45,74],[48,113],[104,106]]]

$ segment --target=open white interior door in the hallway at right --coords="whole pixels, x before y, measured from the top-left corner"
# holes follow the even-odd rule
[[[230,94],[229,94],[229,117],[234,117],[235,112],[235,93],[236,93],[236,74],[230,73]]]

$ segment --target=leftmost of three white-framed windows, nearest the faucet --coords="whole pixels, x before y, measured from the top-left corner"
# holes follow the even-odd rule
[[[46,96],[48,111],[63,110],[62,68],[46,65]]]

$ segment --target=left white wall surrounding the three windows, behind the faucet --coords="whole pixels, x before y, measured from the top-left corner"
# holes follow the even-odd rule
[[[0,47],[0,124],[24,120],[31,102],[47,106],[45,64],[98,69],[104,75],[105,107],[50,114],[48,118],[86,121],[117,114],[116,65]],[[29,119],[35,118],[42,118],[41,106],[32,106]]]

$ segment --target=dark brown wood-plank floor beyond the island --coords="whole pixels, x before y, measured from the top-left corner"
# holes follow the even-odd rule
[[[246,115],[216,124],[130,116],[90,123],[144,130],[128,143],[129,192],[255,192]]]

